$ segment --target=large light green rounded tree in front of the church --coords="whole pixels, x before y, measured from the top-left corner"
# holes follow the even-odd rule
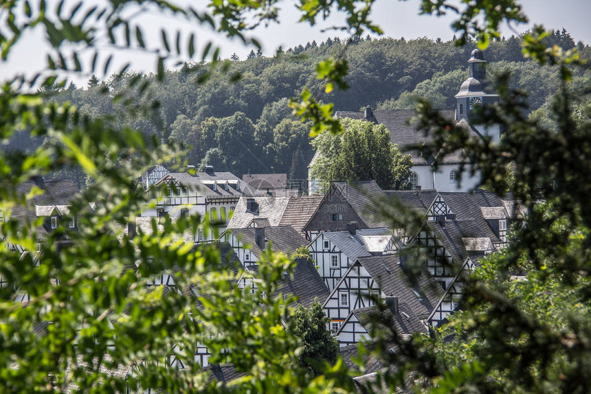
[[[311,176],[327,189],[332,181],[375,180],[382,189],[408,188],[410,156],[403,156],[390,142],[383,125],[342,119],[340,135],[324,132],[312,144],[320,153]]]

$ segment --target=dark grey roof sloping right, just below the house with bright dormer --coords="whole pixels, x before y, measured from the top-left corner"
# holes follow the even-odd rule
[[[413,286],[410,275],[402,267],[405,262],[399,264],[401,262],[399,255],[359,257],[357,261],[377,281],[380,290],[386,294],[386,297],[390,294],[393,297],[398,297],[399,303],[408,305],[412,313],[419,318],[429,316],[443,296],[443,288],[426,271],[415,275],[416,283]]]

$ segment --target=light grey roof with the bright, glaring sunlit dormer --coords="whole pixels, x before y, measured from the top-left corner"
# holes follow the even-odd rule
[[[326,231],[322,235],[349,259],[355,261],[357,257],[371,256],[372,252],[381,254],[392,238],[392,231],[386,228],[361,229],[355,231],[355,235],[348,231]]]

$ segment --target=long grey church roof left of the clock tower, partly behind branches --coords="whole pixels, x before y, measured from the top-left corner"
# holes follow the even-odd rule
[[[447,119],[455,119],[456,117],[456,111],[454,109],[440,110],[439,113]],[[390,141],[397,144],[403,152],[405,152],[406,146],[419,143],[430,143],[433,140],[432,135],[425,135],[423,132],[417,131],[415,126],[408,124],[408,119],[414,115],[414,110],[401,109],[373,111],[373,115],[375,116],[375,119],[377,119],[378,124],[383,124],[388,128],[390,131]],[[359,111],[337,111],[335,117],[366,120],[364,113]],[[470,132],[473,133],[473,130],[470,130]],[[414,150],[405,153],[410,154],[414,165],[427,165],[432,163],[432,158],[421,157],[419,152]],[[462,161],[465,160],[462,159],[461,152],[452,152],[451,154],[447,154],[441,163],[461,163]]]

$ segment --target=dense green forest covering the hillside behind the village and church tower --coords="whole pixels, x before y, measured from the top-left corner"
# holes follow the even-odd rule
[[[591,59],[591,48],[575,43],[566,30],[557,30],[547,40],[563,49],[576,46],[581,58]],[[531,115],[551,121],[545,114],[559,84],[559,70],[524,58],[521,44],[520,36],[491,43],[485,51],[489,78],[510,71],[513,86],[528,93]],[[345,45],[350,87],[326,94],[315,79],[315,65],[341,54]],[[367,105],[378,110],[412,108],[414,95],[427,97],[436,108],[450,108],[467,78],[467,60],[475,47],[476,43],[457,47],[454,40],[428,38],[368,36],[348,44],[329,38],[320,44],[279,48],[273,57],[254,51],[243,60],[233,55],[215,69],[185,64],[167,71],[159,84],[150,83],[154,75],[127,71],[104,82],[93,76],[87,86],[56,86],[45,93],[59,102],[73,102],[83,113],[109,114],[118,127],[142,130],[160,143],[190,146],[190,164],[210,164],[238,176],[287,172],[291,179],[305,179],[313,148],[307,125],[291,116],[289,97],[297,97],[307,86],[319,100],[333,102],[336,110]],[[589,70],[575,73],[573,90],[589,78]],[[150,111],[154,106],[157,111]],[[41,143],[50,141],[16,133],[8,148],[33,149]]]

